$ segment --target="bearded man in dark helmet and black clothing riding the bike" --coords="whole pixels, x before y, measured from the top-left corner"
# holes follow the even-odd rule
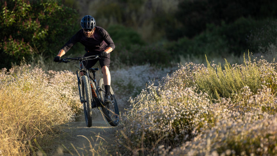
[[[80,29],[65,45],[61,48],[58,55],[54,58],[55,62],[61,61],[61,56],[64,55],[75,43],[80,42],[85,46],[85,55],[84,57],[88,57],[91,55],[98,54],[101,58],[94,59],[94,60],[87,60],[84,63],[85,68],[89,69],[92,68],[97,61],[99,61],[102,73],[103,73],[103,80],[105,86],[105,99],[104,103],[109,104],[111,103],[110,99],[110,85],[111,85],[111,75],[109,71],[110,67],[110,52],[115,49],[115,44],[111,36],[108,32],[103,29],[102,27],[96,27],[95,19],[90,16],[86,15],[81,20],[81,27]],[[80,75],[82,76],[83,73],[81,72]]]

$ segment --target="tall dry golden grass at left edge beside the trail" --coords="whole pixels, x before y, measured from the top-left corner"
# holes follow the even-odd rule
[[[73,120],[76,114],[70,107],[70,103],[76,103],[74,88],[67,87],[75,80],[72,75],[67,71],[47,74],[30,66],[1,70],[1,154],[29,155],[49,150],[58,137],[57,125]]]

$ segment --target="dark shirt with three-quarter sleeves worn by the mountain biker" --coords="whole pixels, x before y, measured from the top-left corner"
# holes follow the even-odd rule
[[[108,47],[115,49],[115,44],[110,34],[102,27],[95,27],[95,32],[92,38],[88,38],[83,33],[83,29],[79,30],[68,42],[63,46],[65,53],[77,42],[85,46],[85,51],[96,54],[104,51]]]

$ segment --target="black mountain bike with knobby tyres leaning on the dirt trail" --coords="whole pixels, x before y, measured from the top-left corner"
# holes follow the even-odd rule
[[[93,60],[100,58],[99,55],[92,55],[89,57],[76,57],[76,58],[63,58],[59,63],[75,62],[79,60],[79,68],[76,71],[77,82],[79,88],[80,101],[84,107],[85,121],[87,127],[92,125],[92,109],[97,107],[101,108],[106,120],[111,126],[117,126],[119,123],[119,110],[115,98],[115,93],[110,88],[111,103],[104,104],[105,87],[103,78],[96,81],[95,72],[98,68],[85,68],[84,63],[87,60]],[[101,58],[100,58],[101,59]],[[80,77],[80,73],[83,72],[83,76]],[[100,111],[101,111],[100,110]]]

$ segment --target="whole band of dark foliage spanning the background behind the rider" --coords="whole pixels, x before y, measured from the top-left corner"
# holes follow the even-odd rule
[[[225,57],[226,53],[241,55],[247,49],[256,53],[275,44],[277,34],[274,6],[260,1],[10,0],[0,4],[2,67],[19,63],[23,56],[30,61],[37,53],[55,55],[78,30],[76,18],[83,14],[93,15],[97,25],[108,30],[116,44],[113,59],[127,65],[169,65],[180,61],[180,55]],[[67,6],[79,9],[81,15]],[[81,54],[81,48],[76,44],[70,53]]]

